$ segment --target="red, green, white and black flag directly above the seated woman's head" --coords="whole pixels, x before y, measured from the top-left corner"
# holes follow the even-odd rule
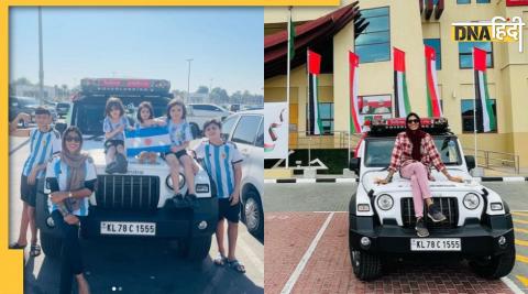
[[[396,117],[405,118],[410,112],[409,94],[405,78],[405,52],[394,48],[394,97]]]

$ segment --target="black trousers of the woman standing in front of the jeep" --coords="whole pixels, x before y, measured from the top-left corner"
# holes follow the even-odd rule
[[[73,276],[82,273],[79,226],[68,225],[58,210],[52,213],[55,227],[61,231],[63,248],[61,252],[61,294],[72,294]]]

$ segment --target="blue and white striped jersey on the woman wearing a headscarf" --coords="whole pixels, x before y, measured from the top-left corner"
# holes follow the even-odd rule
[[[88,159],[86,161],[86,178],[85,182],[92,181],[97,178],[96,166],[94,165],[94,161]],[[47,164],[46,168],[46,183],[47,178],[56,178],[58,183],[59,190],[66,190],[66,181],[69,175],[69,166],[66,163],[61,161],[61,156],[55,156],[53,160]],[[44,193],[50,194],[50,187],[44,185]],[[79,209],[73,211],[72,214],[76,216],[87,216],[88,215],[88,207],[89,207],[89,197],[82,198],[80,202]],[[52,203],[52,200],[47,199],[47,207],[50,208],[50,213],[53,213],[57,209],[57,205]]]

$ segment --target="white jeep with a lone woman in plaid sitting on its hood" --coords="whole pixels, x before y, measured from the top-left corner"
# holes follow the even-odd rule
[[[386,177],[395,137],[405,130],[405,118],[375,119],[350,162],[350,170],[359,175],[358,190],[349,206],[349,246],[355,276],[375,279],[387,257],[420,253],[465,258],[486,279],[507,275],[515,264],[508,205],[496,192],[472,178],[469,172],[475,167],[475,159],[464,156],[446,119],[422,119],[421,126],[432,135],[449,173],[464,183],[450,182],[442,173],[431,171],[436,178],[430,182],[432,199],[447,220],[432,222],[426,217],[429,237],[416,235],[409,179],[396,173],[389,184],[374,184],[376,177]]]

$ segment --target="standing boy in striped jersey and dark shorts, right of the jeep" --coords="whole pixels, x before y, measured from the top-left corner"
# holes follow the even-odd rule
[[[240,181],[242,178],[242,155],[232,142],[224,142],[220,137],[222,124],[218,120],[210,120],[204,124],[204,140],[195,148],[197,159],[202,160],[206,171],[212,178],[211,185],[217,187],[219,221],[217,225],[217,242],[219,255],[215,264],[228,264],[231,269],[244,273],[245,268],[235,258],[237,238],[239,236],[240,214]],[[195,172],[198,170],[195,163]],[[228,219],[229,251],[226,257],[223,246],[223,219]]]

